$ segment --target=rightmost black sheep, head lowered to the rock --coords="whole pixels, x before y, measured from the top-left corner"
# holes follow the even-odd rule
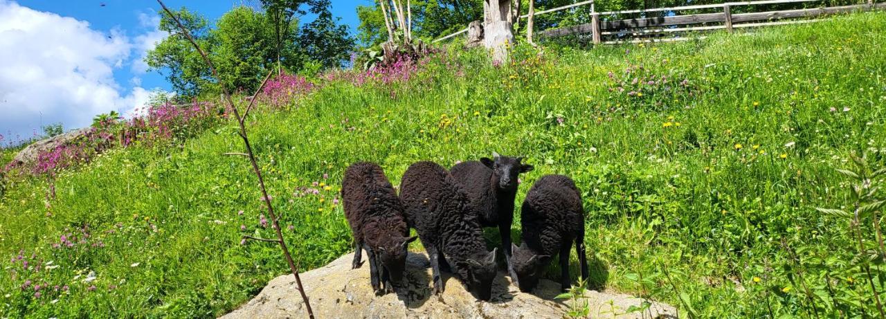
[[[587,279],[585,255],[585,215],[581,193],[569,177],[544,175],[526,194],[520,212],[523,244],[514,245],[509,268],[511,280],[522,292],[530,292],[539,284],[539,277],[548,261],[560,254],[563,290],[569,288],[569,249],[575,241],[579,254],[581,277]],[[512,244],[513,245],[513,244]]]

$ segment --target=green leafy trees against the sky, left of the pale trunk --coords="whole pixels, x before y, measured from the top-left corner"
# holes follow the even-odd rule
[[[353,40],[347,27],[332,17],[329,0],[261,1],[264,11],[239,6],[224,13],[214,27],[182,7],[175,11],[184,27],[213,61],[221,81],[230,90],[253,91],[262,77],[277,67],[299,72],[306,66],[337,67],[348,57]],[[307,5],[317,19],[299,28],[301,9]],[[170,34],[152,50],[145,62],[167,77],[180,97],[214,94],[220,90],[209,68],[175,21],[161,14],[159,29]]]

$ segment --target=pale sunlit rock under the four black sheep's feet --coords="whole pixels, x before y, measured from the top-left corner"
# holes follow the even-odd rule
[[[369,264],[351,269],[353,253],[346,254],[322,268],[301,274],[307,296],[317,318],[563,318],[570,300],[554,300],[560,284],[542,280],[532,293],[519,292],[509,278],[499,272],[493,287],[493,299],[482,302],[466,292],[455,277],[443,273],[446,290],[431,296],[431,269],[427,255],[409,253],[408,287],[397,293],[377,297],[369,286]],[[676,318],[671,306],[652,302],[641,312],[626,314],[642,300],[624,294],[586,292],[591,317],[605,318]],[[584,300],[579,300],[583,303]],[[235,318],[303,318],[304,304],[291,275],[278,276],[258,296],[234,312],[222,316]]]

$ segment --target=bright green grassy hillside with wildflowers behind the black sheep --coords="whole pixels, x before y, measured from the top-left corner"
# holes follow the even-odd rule
[[[535,166],[517,200],[541,175],[576,180],[597,289],[702,317],[872,315],[848,219],[812,207],[851,206],[835,172],[851,152],[886,166],[884,47],[886,13],[860,13],[700,42],[519,47],[501,67],[449,51],[408,82],[265,105],[249,128],[304,268],[352,249],[348,164],[376,161],[399,184],[417,160],[496,151]],[[7,180],[0,317],[221,315],[284,274],[276,246],[240,243],[273,235],[246,160],[221,155],[242,152],[235,132],[105,152],[58,175],[54,199],[45,178]]]

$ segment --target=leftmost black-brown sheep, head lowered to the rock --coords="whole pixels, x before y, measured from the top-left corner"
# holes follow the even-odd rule
[[[365,249],[369,255],[372,289],[377,295],[393,292],[392,283],[400,283],[406,268],[406,248],[416,240],[408,237],[409,229],[397,192],[382,167],[359,162],[347,167],[341,197],[356,244],[352,267],[360,268],[361,253]],[[379,281],[384,287],[379,287]]]

